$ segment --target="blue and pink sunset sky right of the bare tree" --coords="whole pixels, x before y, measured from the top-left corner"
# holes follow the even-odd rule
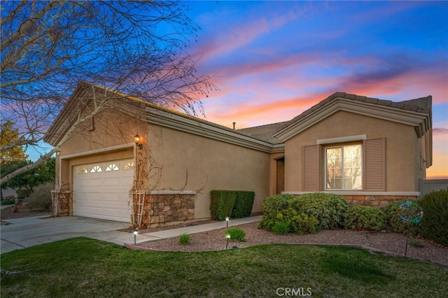
[[[334,92],[433,96],[433,166],[448,178],[448,1],[188,1],[190,52],[219,87],[206,119],[237,129],[294,118]]]

